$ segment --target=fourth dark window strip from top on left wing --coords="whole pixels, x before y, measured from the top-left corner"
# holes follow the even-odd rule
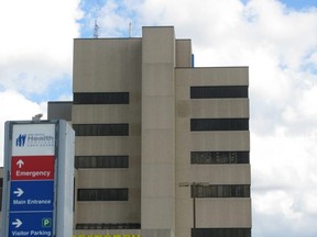
[[[78,189],[77,201],[128,201],[128,189]]]

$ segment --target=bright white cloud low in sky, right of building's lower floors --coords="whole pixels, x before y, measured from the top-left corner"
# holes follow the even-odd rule
[[[255,236],[316,236],[316,142],[317,128],[309,136],[289,136],[283,127],[271,136],[252,135]]]

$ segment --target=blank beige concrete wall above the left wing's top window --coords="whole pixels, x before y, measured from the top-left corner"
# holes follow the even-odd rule
[[[75,40],[74,92],[141,88],[141,38]]]

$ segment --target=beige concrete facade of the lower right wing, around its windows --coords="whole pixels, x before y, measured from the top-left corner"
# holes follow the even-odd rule
[[[190,117],[249,117],[248,99],[190,100],[192,86],[245,86],[248,68],[176,69],[176,183],[250,184],[250,163],[190,165],[190,151],[250,150],[249,131],[190,132]],[[176,188],[177,236],[193,227],[189,189]],[[190,208],[192,207],[192,208]],[[251,199],[196,199],[196,228],[251,228]],[[244,235],[243,235],[244,236]]]

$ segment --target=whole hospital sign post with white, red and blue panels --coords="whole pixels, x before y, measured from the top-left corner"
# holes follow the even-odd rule
[[[65,121],[6,123],[3,237],[72,236],[74,142]]]

